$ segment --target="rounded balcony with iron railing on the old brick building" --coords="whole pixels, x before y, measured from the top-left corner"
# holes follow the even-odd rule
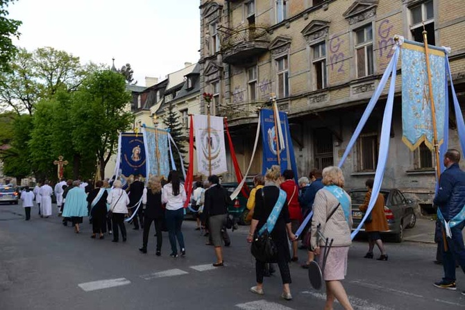
[[[270,39],[266,25],[247,25],[223,32],[221,51],[223,62],[242,64],[268,51]]]

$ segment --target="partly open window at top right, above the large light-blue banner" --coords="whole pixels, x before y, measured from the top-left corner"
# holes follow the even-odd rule
[[[423,24],[428,32],[428,44],[436,44],[434,40],[434,8],[432,0],[425,1],[410,8],[410,32],[412,39],[423,43]]]

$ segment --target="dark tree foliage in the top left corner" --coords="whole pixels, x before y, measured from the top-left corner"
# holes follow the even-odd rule
[[[11,37],[18,37],[19,26],[22,22],[15,19],[8,19],[8,5],[15,0],[0,1],[0,71],[9,71],[10,62],[16,53],[16,46],[13,45]]]

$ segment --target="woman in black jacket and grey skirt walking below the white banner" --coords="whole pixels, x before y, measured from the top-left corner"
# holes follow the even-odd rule
[[[205,203],[203,205],[203,212],[208,217],[208,224],[210,227],[210,237],[214,246],[214,254],[217,256],[217,262],[213,263],[214,267],[223,267],[223,251],[221,249],[223,235],[228,232],[223,230],[226,216],[228,216],[228,204],[230,198],[228,191],[219,184],[218,175],[210,175],[208,177],[210,188],[205,191]],[[228,238],[229,239],[229,236]]]

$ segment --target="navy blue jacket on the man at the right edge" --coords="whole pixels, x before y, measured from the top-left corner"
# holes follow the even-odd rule
[[[465,172],[459,164],[446,169],[439,179],[439,190],[433,200],[446,221],[456,216],[465,206]]]

